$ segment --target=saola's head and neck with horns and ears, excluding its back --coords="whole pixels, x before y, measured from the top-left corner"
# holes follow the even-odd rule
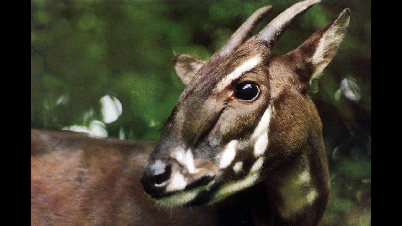
[[[349,9],[293,51],[272,53],[289,24],[317,2],[294,4],[249,38],[271,6],[258,9],[206,62],[176,55],[186,88],[144,168],[148,194],[168,206],[220,202],[227,210],[238,200],[244,211],[258,210],[242,218],[250,224],[319,222],[330,181],[322,124],[307,91],[338,50]],[[241,224],[236,214],[230,219]]]

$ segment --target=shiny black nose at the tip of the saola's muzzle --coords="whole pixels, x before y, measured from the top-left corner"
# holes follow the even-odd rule
[[[166,160],[148,162],[141,178],[142,187],[144,187],[146,193],[154,198],[163,197],[163,192],[168,184],[167,180],[171,172],[172,164]]]

